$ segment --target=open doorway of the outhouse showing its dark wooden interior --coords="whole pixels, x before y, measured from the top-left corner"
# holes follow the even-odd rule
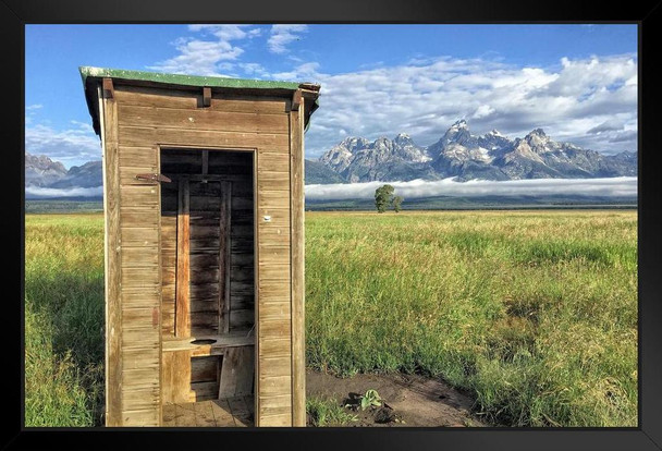
[[[191,426],[250,425],[253,153],[161,149],[160,173],[171,180],[161,183],[163,425],[179,411],[208,413]]]

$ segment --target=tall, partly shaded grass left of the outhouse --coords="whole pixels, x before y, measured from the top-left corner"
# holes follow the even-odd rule
[[[25,425],[101,425],[102,386],[102,216],[27,216]]]

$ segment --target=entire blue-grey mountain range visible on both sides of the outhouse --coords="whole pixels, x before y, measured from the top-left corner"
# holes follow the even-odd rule
[[[473,179],[586,179],[637,175],[637,153],[603,155],[559,143],[542,129],[511,139],[497,130],[473,135],[466,121],[455,122],[434,144],[421,147],[401,133],[370,142],[347,137],[318,160],[306,160],[307,184]],[[69,190],[102,185],[101,161],[69,170],[47,156],[25,154],[25,185]],[[32,190],[30,193],[36,192]],[[29,194],[35,197],[35,194]]]

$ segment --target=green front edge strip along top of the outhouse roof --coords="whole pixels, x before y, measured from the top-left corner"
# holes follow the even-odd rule
[[[275,82],[268,80],[225,78],[221,76],[163,74],[159,72],[127,71],[124,69],[106,69],[90,66],[81,66],[78,68],[78,70],[81,71],[83,85],[85,85],[85,82],[88,77],[109,77],[120,80],[135,80],[142,82],[166,83],[171,85],[183,86],[292,90],[298,89],[299,87],[299,83],[296,82]]]

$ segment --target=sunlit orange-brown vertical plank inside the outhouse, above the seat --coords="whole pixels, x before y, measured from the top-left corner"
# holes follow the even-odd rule
[[[177,208],[177,267],[175,282],[175,334],[191,334],[191,298],[189,298],[189,214],[188,214],[188,182],[180,181]]]

